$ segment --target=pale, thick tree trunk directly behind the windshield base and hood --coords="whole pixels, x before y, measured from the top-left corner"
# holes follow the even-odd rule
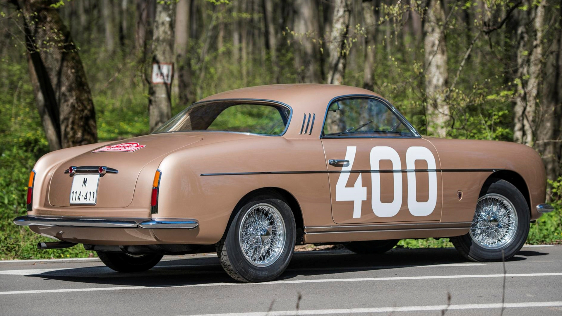
[[[448,74],[445,12],[441,0],[428,1],[423,29],[427,131],[428,134],[445,137],[449,118],[445,102]]]

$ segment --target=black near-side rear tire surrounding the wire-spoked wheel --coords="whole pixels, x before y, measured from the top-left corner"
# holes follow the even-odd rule
[[[243,254],[238,238],[244,214],[253,206],[260,203],[267,203],[274,206],[282,215],[285,224],[285,245],[283,246],[282,254],[273,264],[268,265],[268,267],[257,267],[253,265]],[[248,282],[271,281],[279,277],[287,268],[289,261],[291,261],[295,238],[296,228],[291,208],[278,198],[256,197],[244,205],[232,220],[228,233],[226,234],[226,252],[230,263]]]

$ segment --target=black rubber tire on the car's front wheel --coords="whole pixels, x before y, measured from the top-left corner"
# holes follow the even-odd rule
[[[480,245],[473,239],[470,232],[463,236],[451,237],[450,240],[456,250],[458,250],[465,258],[472,261],[501,261],[502,252],[504,252],[503,259],[507,260],[521,250],[521,247],[523,247],[529,234],[531,213],[529,211],[527,201],[522,193],[519,192],[519,189],[506,180],[495,180],[495,182],[490,184],[490,187],[488,187],[486,192],[481,193],[481,198],[488,195],[500,195],[511,202],[514,206],[515,214],[517,215],[517,225],[514,237],[511,241],[495,249],[488,249]]]

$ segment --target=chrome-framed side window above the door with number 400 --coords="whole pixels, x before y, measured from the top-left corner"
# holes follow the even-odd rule
[[[413,137],[384,103],[370,98],[346,99],[330,105],[325,137]]]

